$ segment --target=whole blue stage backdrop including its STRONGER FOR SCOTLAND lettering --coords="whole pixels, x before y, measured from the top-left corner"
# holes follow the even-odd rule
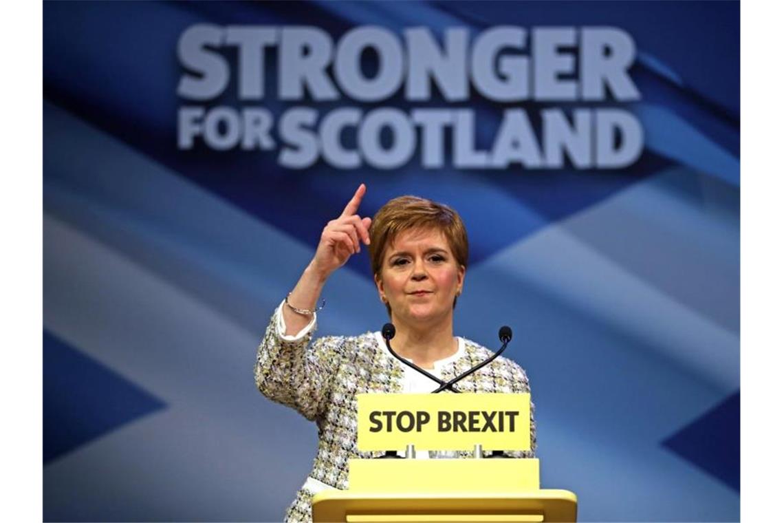
[[[279,521],[318,429],[254,385],[360,183],[470,238],[582,521],[738,521],[739,2],[45,2],[44,518]],[[366,249],[318,334],[388,321]]]

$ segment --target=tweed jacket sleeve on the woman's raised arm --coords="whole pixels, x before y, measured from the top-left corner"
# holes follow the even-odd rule
[[[313,421],[324,412],[332,391],[343,337],[310,340],[315,322],[297,336],[284,336],[275,311],[256,354],[256,387]]]

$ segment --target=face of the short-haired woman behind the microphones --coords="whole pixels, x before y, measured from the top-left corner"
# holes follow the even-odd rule
[[[452,318],[466,267],[458,265],[443,232],[412,229],[387,245],[376,286],[393,323],[436,323]]]

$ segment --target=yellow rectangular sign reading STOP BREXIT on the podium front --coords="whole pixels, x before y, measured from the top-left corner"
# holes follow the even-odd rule
[[[531,394],[358,394],[357,447],[531,449]]]

